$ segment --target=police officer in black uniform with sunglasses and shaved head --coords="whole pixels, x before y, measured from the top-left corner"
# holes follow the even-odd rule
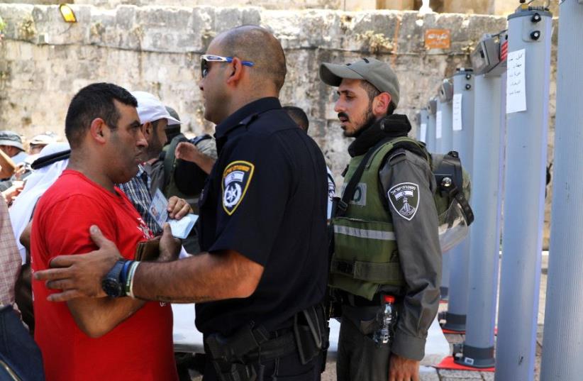
[[[159,262],[167,262],[135,267],[91,231],[100,250],[62,256],[53,265],[69,268],[37,279],[64,289],[54,300],[124,296],[116,289],[123,283],[140,299],[196,302],[209,356],[204,380],[319,380],[328,265],[323,155],[279,104],[286,65],[273,35],[241,26],[218,35],[207,53],[199,87],[205,118],[217,123],[218,161],[199,203],[204,253],[168,261],[165,229]]]

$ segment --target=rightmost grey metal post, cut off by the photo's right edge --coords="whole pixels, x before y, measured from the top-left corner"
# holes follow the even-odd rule
[[[559,6],[557,119],[547,304],[540,380],[583,377],[583,1]]]

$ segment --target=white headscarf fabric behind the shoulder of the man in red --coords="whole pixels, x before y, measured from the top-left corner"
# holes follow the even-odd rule
[[[40,151],[38,158],[69,150],[69,143],[50,143]],[[36,202],[45,191],[57,181],[62,171],[69,164],[69,159],[53,162],[46,167],[35,170],[26,177],[26,183],[21,194],[16,197],[9,209],[10,221],[18,250],[21,253],[22,263],[26,263],[26,248],[21,243],[21,234],[30,222]]]

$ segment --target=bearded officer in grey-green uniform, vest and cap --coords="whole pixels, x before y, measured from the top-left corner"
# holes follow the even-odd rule
[[[395,146],[411,131],[399,81],[387,63],[363,58],[323,63],[323,82],[338,87],[335,111],[353,137],[345,186],[367,157],[345,216],[333,219],[330,285],[342,301],[338,380],[418,381],[429,326],[439,303],[441,250],[435,179],[423,152]],[[387,296],[396,323],[388,343],[374,341]]]

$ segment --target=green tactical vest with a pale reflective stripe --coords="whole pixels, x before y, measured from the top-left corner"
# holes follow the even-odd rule
[[[346,215],[335,217],[334,255],[330,286],[372,300],[382,285],[404,287],[391,214],[379,192],[379,170],[394,144],[410,138],[396,138],[382,145],[369,159],[348,205]],[[365,155],[350,160],[344,186]]]

